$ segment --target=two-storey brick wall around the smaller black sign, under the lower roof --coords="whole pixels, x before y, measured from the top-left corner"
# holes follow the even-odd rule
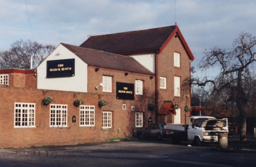
[[[155,103],[155,77],[150,80],[150,75],[129,72],[125,76],[126,71],[109,70],[99,68],[95,72],[95,67],[88,67],[88,92],[98,94],[99,100],[105,99],[109,102],[107,106],[103,106],[101,111],[112,111],[112,128],[108,132],[102,132],[107,138],[131,136],[135,127],[135,112],[144,112],[143,128],[148,127],[148,118],[155,120],[155,111],[149,111],[147,106],[149,102]],[[112,77],[112,92],[102,92],[102,87],[98,90],[96,86],[102,82],[102,76],[108,75]],[[135,100],[116,99],[116,82],[125,82],[135,84],[135,80],[143,80],[143,95],[135,95]],[[122,110],[122,104],[126,104],[126,110]],[[131,106],[135,106],[135,111],[131,111]],[[118,129],[119,131],[118,134]]]

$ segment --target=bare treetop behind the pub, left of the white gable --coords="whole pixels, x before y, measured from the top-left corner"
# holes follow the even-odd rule
[[[54,49],[53,45],[42,45],[31,40],[13,42],[9,50],[0,51],[0,68],[29,69],[31,56],[33,68],[36,68]]]

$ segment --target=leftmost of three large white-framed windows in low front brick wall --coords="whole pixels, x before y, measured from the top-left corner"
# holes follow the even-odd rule
[[[14,127],[36,127],[35,126],[35,103],[15,102]]]

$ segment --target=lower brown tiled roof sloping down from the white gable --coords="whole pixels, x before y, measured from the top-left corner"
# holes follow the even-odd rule
[[[89,66],[154,75],[132,57],[60,43]]]

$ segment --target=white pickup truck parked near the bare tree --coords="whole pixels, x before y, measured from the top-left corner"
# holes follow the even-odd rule
[[[174,144],[192,141],[196,146],[200,146],[202,142],[217,142],[219,134],[228,135],[227,119],[211,116],[191,116],[188,125],[165,124],[164,129]]]

